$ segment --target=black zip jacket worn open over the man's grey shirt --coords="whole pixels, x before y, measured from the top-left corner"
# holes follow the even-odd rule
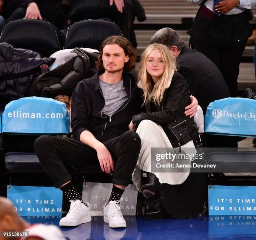
[[[141,98],[137,79],[131,73],[123,73],[123,82],[128,100],[112,115],[103,114],[105,105],[99,85],[99,75],[80,81],[73,93],[71,110],[71,128],[74,138],[80,140],[84,130],[90,131],[97,140],[104,142],[128,131],[133,115],[140,112]]]

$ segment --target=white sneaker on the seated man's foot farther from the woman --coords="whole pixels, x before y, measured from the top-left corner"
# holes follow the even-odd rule
[[[66,217],[59,221],[60,226],[73,227],[82,223],[92,221],[90,204],[81,202],[80,200],[69,201],[71,203],[69,212]]]

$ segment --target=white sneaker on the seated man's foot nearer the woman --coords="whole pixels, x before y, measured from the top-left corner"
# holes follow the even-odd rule
[[[106,203],[103,209],[104,222],[108,223],[110,228],[125,228],[126,222],[120,210],[120,201],[110,201]]]

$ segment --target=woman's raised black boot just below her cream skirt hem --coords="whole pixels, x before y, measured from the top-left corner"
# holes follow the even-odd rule
[[[141,193],[144,198],[152,198],[156,189],[161,187],[158,178],[153,173],[147,173],[147,183],[142,185]]]

